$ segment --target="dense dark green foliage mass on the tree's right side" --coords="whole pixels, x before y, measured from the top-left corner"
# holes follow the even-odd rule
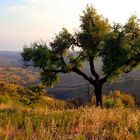
[[[103,71],[110,79],[128,73],[140,63],[140,25],[136,16],[131,16],[122,26],[115,24],[105,38],[101,53]]]

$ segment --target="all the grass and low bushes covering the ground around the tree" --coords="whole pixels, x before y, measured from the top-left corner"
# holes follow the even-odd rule
[[[0,86],[0,139],[140,139],[140,110],[129,94],[110,92],[104,108],[93,105],[95,97],[92,106],[74,108],[44,95],[42,85]]]

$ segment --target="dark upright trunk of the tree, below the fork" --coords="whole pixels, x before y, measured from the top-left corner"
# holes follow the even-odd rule
[[[103,97],[102,97],[102,88],[103,85],[100,82],[97,82],[96,85],[94,85],[95,88],[95,96],[96,96],[96,106],[103,106]]]

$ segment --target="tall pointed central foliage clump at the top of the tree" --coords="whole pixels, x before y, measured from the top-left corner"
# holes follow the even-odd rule
[[[102,47],[102,41],[110,30],[110,25],[107,19],[97,14],[92,5],[86,7],[80,20],[81,32],[77,35],[79,44],[87,55],[97,57]]]

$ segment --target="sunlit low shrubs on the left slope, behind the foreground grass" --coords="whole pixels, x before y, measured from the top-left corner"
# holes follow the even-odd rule
[[[46,88],[39,85],[20,87],[11,83],[0,83],[0,106],[3,108],[38,108],[49,110],[64,110],[73,108],[72,104],[47,96]]]

